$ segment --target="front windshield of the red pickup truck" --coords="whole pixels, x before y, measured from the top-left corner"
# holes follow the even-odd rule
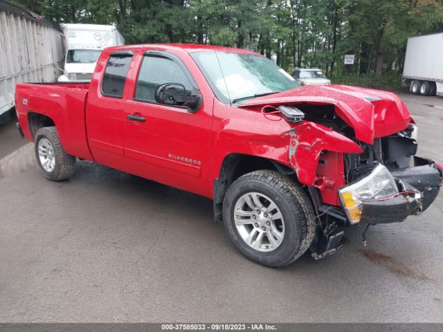
[[[222,102],[235,103],[300,87],[291,75],[261,55],[204,51],[192,53],[192,57]]]

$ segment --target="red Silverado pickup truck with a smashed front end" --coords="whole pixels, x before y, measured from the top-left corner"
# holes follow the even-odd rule
[[[80,158],[207,196],[266,266],[330,255],[348,225],[404,221],[442,185],[396,95],[300,86],[248,50],[107,48],[90,83],[17,84],[15,104],[46,178],[69,178]]]

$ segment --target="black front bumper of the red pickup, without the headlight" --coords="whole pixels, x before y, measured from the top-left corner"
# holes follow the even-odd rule
[[[437,197],[443,170],[431,160],[414,157],[414,166],[390,169],[400,194],[388,199],[364,201],[360,223],[398,223],[426,210]]]

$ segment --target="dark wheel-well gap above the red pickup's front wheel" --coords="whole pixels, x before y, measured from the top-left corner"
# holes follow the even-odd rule
[[[260,169],[272,169],[280,174],[293,175],[296,178],[293,169],[276,160],[249,154],[228,154],[221,163],[219,176],[214,179],[213,184],[214,220],[216,222],[223,219],[223,200],[230,184],[240,176]]]

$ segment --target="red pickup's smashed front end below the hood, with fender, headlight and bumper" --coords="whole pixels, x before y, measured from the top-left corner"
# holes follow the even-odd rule
[[[317,211],[315,259],[343,248],[347,225],[397,223],[420,214],[437,197],[443,178],[440,165],[415,156],[415,124],[368,144],[341,120],[325,119],[299,122],[289,132],[289,162]]]

